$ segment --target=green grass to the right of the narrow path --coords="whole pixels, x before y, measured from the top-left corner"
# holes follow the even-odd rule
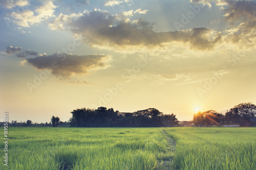
[[[256,169],[256,128],[165,128],[176,169]]]

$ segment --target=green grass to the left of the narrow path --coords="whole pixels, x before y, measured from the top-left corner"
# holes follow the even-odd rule
[[[173,156],[160,128],[9,128],[8,133],[8,167],[1,161],[0,169],[160,169],[159,160]]]

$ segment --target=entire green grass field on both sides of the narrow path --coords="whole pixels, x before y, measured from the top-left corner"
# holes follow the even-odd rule
[[[256,169],[256,128],[9,128],[8,133],[8,168],[2,149],[0,169]],[[165,134],[176,141],[175,152]]]

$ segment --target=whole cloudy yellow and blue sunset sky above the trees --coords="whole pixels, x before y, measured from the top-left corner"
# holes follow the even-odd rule
[[[10,121],[100,106],[191,120],[256,103],[255,1],[1,0],[0,34]]]

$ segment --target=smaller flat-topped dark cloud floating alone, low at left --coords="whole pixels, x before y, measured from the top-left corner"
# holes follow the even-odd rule
[[[38,70],[48,68],[57,77],[69,78],[74,74],[84,75],[89,71],[99,70],[109,67],[111,57],[108,55],[71,55],[53,54],[40,55],[35,58],[27,59]]]

